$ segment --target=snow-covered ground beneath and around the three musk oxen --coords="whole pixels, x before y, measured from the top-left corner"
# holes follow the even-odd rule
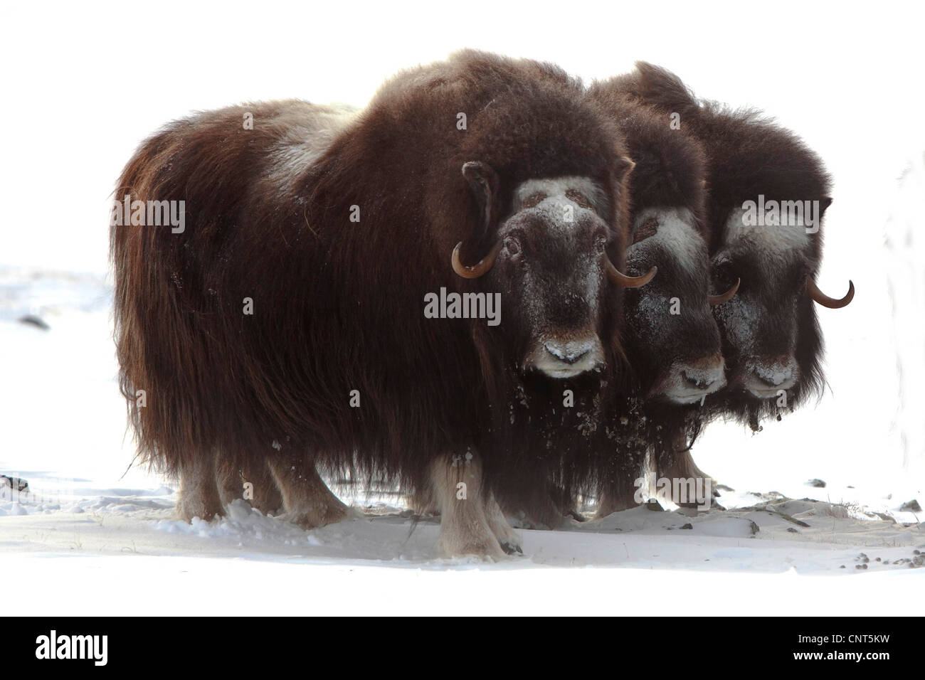
[[[362,518],[314,531],[243,501],[211,524],[179,522],[176,485],[129,465],[110,295],[102,277],[0,269],[0,473],[29,482],[17,500],[7,490],[0,501],[0,570],[5,583],[39,593],[32,612],[192,611],[163,598],[162,587],[228,613],[242,600],[249,612],[396,602],[422,612],[476,604],[480,612],[652,612],[675,590],[704,598],[705,612],[920,611],[925,555],[916,551],[925,553],[925,530],[921,513],[901,506],[922,500],[921,479],[904,476],[888,451],[846,451],[855,435],[845,425],[826,435],[828,444],[818,438],[818,428],[834,427],[829,420],[851,420],[839,420],[831,394],[803,422],[796,414],[758,435],[710,427],[697,461],[734,489],[722,490],[727,510],[643,506],[557,531],[523,530],[524,556],[501,563],[439,559],[438,524],[413,525],[401,499],[388,496],[354,497]],[[29,314],[49,328],[19,321]],[[339,491],[350,498],[350,489]],[[136,598],[139,578],[159,585]],[[80,587],[32,587],[61,582]],[[466,585],[479,595],[457,602]],[[539,601],[539,588],[569,597]],[[721,603],[705,588],[743,596]],[[781,588],[784,597],[771,596]]]

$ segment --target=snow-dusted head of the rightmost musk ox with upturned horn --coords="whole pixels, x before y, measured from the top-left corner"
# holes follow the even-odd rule
[[[724,233],[712,257],[713,286],[725,290],[741,281],[734,299],[714,308],[731,398],[744,400],[750,417],[763,400],[793,407],[821,383],[822,340],[813,303],[843,307],[854,297],[854,284],[841,300],[817,288],[818,247],[811,240],[818,234],[802,219],[759,226],[736,208]]]

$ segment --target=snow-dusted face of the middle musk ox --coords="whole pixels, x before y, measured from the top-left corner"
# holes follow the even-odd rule
[[[659,269],[623,301],[627,352],[650,400],[695,403],[726,384],[710,313],[707,244],[695,225],[684,208],[647,209],[634,219],[627,269]]]

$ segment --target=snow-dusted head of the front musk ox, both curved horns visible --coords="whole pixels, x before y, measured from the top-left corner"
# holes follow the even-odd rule
[[[504,216],[493,220],[498,174],[481,162],[466,163],[462,174],[485,224],[498,226],[489,253],[475,266],[462,265],[457,245],[453,269],[463,278],[484,276],[487,290],[500,292],[505,322],[499,332],[516,348],[512,358],[521,375],[563,379],[602,370],[609,301],[619,287],[642,286],[655,275],[627,277],[612,264],[620,244],[604,189],[586,177],[527,179],[512,187]]]

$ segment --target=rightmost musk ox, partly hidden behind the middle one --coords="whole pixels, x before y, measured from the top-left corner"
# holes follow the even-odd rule
[[[728,387],[707,411],[733,414],[759,429],[763,417],[791,411],[823,384],[822,337],[815,303],[840,308],[815,283],[821,220],[831,179],[793,132],[751,109],[697,99],[670,71],[637,62],[615,86],[701,142],[708,158],[710,269],[715,290],[739,282],[733,300],[714,308]],[[767,217],[770,217],[767,218]],[[678,476],[702,476],[688,452]]]

